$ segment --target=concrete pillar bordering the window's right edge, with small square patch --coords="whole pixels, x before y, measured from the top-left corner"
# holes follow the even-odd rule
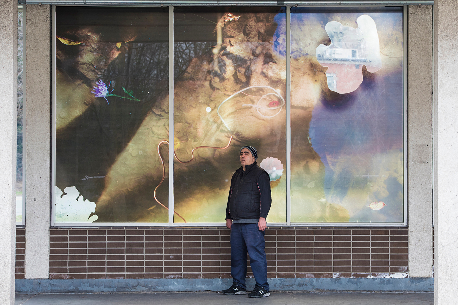
[[[409,276],[432,277],[432,7],[408,11]]]

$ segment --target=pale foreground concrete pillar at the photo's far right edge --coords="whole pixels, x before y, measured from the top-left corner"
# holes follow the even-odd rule
[[[458,1],[434,5],[434,304],[458,300]]]

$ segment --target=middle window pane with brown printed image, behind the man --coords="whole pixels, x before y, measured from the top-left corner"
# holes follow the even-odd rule
[[[267,222],[286,221],[285,8],[174,8],[174,222],[225,222],[240,148],[270,175]]]

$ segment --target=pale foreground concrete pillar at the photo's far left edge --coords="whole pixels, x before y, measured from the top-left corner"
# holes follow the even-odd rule
[[[0,0],[0,304],[14,304],[17,0]]]

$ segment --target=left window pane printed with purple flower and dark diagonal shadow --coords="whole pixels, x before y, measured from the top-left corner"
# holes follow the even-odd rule
[[[168,222],[168,25],[168,8],[56,7],[56,223]]]

